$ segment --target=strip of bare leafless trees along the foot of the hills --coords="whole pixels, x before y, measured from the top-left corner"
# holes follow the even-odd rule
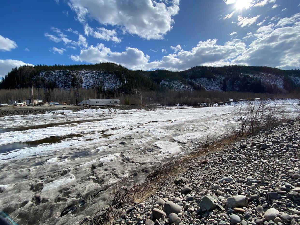
[[[239,100],[247,98],[299,98],[299,92],[289,93],[252,93],[237,91],[136,91],[132,93],[111,92],[104,93],[97,89],[71,88],[64,90],[59,88],[34,88],[34,98],[43,102],[59,102],[76,104],[88,99],[119,99],[120,104],[187,104],[197,105],[204,102],[222,102],[229,99]],[[0,103],[7,103],[8,100],[27,100],[32,98],[31,88],[0,89]]]

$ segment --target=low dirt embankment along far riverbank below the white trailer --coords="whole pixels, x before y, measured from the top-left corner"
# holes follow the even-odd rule
[[[154,106],[140,106],[140,105],[120,105],[120,106],[105,106],[105,107],[78,107],[78,106],[65,106],[65,107],[24,107],[24,108],[13,108],[5,107],[0,108],[0,117],[3,116],[16,116],[16,115],[38,115],[44,114],[48,111],[53,110],[72,110],[73,112],[78,112],[84,109],[117,109],[117,110],[133,110],[133,109],[155,109],[158,107]]]

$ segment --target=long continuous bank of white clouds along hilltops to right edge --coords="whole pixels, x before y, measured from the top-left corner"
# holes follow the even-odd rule
[[[175,52],[161,60],[150,57],[136,48],[127,47],[123,52],[112,52],[104,44],[81,49],[79,55],[71,55],[74,61],[99,63],[113,61],[131,69],[186,70],[195,65],[223,66],[232,64],[300,68],[300,21],[298,13],[278,23],[260,26],[256,32],[247,33],[254,38],[247,46],[242,40],[233,39],[217,44],[217,39],[199,41],[196,47],[185,51],[180,45],[171,46]],[[265,18],[266,19],[266,18]],[[280,26],[279,26],[280,25]],[[232,32],[234,33],[234,32]],[[161,50],[166,53],[165,49]]]

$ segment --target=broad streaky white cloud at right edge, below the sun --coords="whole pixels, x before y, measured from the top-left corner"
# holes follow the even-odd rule
[[[258,38],[232,64],[285,69],[300,67],[300,22],[277,29],[273,29],[273,26],[259,28],[256,33]]]

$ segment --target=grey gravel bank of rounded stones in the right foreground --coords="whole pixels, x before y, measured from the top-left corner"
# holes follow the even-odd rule
[[[224,146],[114,224],[300,224],[299,149],[299,120]]]

